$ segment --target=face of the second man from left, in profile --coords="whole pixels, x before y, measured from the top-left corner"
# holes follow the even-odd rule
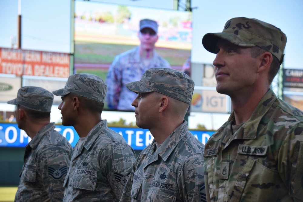
[[[58,106],[58,109],[61,110],[62,114],[62,125],[64,126],[72,126],[74,123],[75,116],[73,115],[74,107],[72,101],[72,95],[67,94],[61,97],[62,102]]]

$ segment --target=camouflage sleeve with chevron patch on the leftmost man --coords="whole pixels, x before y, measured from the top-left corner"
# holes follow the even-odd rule
[[[63,182],[71,159],[69,148],[49,145],[38,154],[38,173],[42,178],[44,190],[50,201],[62,201],[64,195]]]

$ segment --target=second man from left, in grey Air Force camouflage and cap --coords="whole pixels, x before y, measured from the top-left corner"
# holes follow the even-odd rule
[[[72,125],[80,138],[65,177],[63,201],[119,201],[135,152],[101,118],[106,84],[96,75],[75,74],[53,93],[62,96],[62,124]]]

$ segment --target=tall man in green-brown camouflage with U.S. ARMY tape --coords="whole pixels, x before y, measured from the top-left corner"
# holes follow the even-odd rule
[[[205,145],[207,200],[302,201],[303,112],[270,88],[285,34],[257,19],[232,18],[202,44],[217,54],[217,91],[233,107]]]

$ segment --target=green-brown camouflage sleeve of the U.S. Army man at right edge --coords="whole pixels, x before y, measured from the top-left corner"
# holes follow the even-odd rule
[[[303,127],[292,128],[278,152],[278,172],[294,201],[303,198]]]

